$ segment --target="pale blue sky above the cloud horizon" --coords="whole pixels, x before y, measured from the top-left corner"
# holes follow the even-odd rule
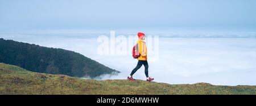
[[[0,32],[55,29],[256,31],[255,0],[0,0]]]

